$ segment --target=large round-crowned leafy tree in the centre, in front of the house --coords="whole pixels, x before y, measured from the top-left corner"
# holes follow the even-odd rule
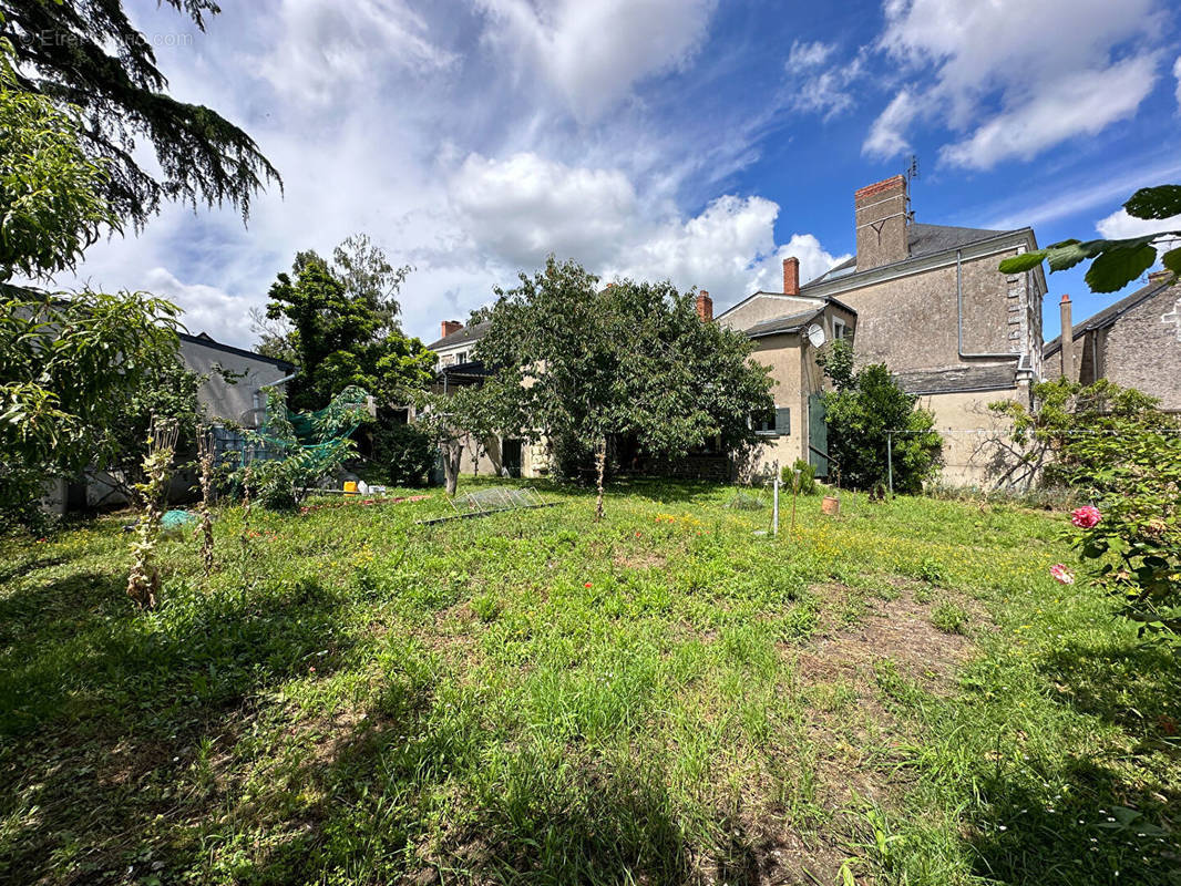
[[[557,452],[598,452],[600,516],[612,439],[628,435],[661,456],[713,437],[733,445],[753,436],[746,416],[771,406],[765,369],[748,360],[751,345],[702,324],[692,293],[632,280],[600,288],[554,256],[520,281],[497,291],[477,357],[497,374],[500,415],[515,416],[524,436]]]

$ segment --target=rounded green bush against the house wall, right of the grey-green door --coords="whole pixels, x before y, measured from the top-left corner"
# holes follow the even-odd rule
[[[824,411],[829,455],[840,468],[841,481],[857,489],[885,486],[889,437],[894,489],[922,491],[922,484],[934,478],[942,455],[934,415],[916,408],[918,397],[899,387],[885,364],[854,369],[847,341],[833,341],[821,363],[835,387],[824,395]]]

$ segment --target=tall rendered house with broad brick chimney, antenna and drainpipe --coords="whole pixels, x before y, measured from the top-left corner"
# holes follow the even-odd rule
[[[1044,272],[997,269],[1003,259],[1037,248],[1032,229],[918,223],[899,175],[854,194],[854,230],[853,258],[779,295],[830,304],[834,317],[839,310],[855,314],[857,361],[885,363],[934,412],[944,436],[944,482],[987,483],[996,456],[988,441],[997,432],[988,404],[1027,402],[1031,383],[1043,374]],[[735,312],[752,300],[765,310],[739,319]],[[719,319],[749,331],[775,319],[775,304],[756,293]],[[787,315],[794,308],[783,304]]]

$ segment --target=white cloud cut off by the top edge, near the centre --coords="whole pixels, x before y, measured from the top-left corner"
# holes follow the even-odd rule
[[[485,41],[540,72],[570,112],[593,123],[638,82],[686,64],[705,39],[716,0],[477,0]]]

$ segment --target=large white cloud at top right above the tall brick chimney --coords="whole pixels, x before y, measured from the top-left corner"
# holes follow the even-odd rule
[[[970,132],[947,148],[945,158],[987,168],[1031,157],[1134,113],[1157,77],[1159,57],[1150,45],[1161,30],[1155,5],[886,0],[886,30],[877,46],[907,77],[905,89],[925,119],[944,119],[953,131]],[[1083,106],[1089,112],[1078,110]],[[912,113],[893,128],[875,124],[864,151],[902,152],[905,130],[916,118]],[[1022,128],[1027,131],[1014,131]]]

